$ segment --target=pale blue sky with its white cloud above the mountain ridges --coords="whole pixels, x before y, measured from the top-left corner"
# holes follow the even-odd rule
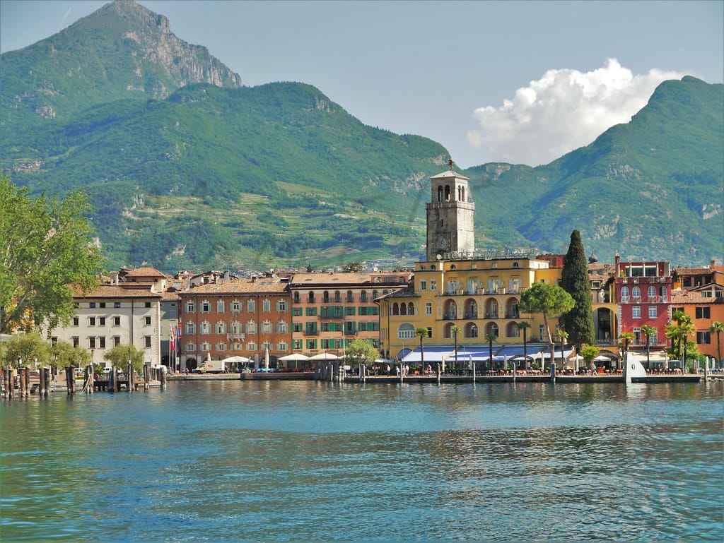
[[[105,3],[0,0],[0,50]],[[662,80],[724,79],[724,1],[139,3],[245,84],[309,83],[463,168],[550,162],[628,121]]]

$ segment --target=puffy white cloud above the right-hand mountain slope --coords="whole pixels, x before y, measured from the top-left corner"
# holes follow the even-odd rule
[[[502,106],[473,111],[480,126],[468,132],[468,142],[483,150],[483,162],[549,163],[630,121],[660,82],[683,75],[658,69],[634,75],[616,59],[586,73],[551,69]]]

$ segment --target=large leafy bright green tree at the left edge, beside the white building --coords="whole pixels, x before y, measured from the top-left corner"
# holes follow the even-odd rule
[[[98,285],[104,260],[83,213],[88,197],[72,192],[63,202],[30,196],[0,177],[0,333],[46,320],[67,324],[75,308],[71,288]]]

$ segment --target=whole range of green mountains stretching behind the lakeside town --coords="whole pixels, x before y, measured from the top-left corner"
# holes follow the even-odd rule
[[[310,85],[244,87],[135,2],[1,64],[3,171],[34,192],[86,189],[113,267],[424,255],[428,178],[447,168],[445,147],[365,126]],[[463,171],[476,247],[565,252],[577,228],[600,260],[722,260],[723,150],[724,85],[664,82],[630,123],[557,161]]]

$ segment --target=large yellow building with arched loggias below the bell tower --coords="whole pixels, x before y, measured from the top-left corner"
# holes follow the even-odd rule
[[[561,270],[522,253],[462,256],[448,254],[439,260],[417,262],[411,286],[379,299],[380,349],[385,356],[401,359],[419,349],[416,329],[426,328],[426,362],[441,362],[450,356],[455,341],[463,359],[468,351],[487,359],[490,338],[494,338],[494,356],[507,359],[523,354],[521,322],[530,325],[526,328],[526,354],[547,348],[542,315],[523,314],[518,304],[521,292],[534,282],[557,284]],[[555,335],[556,322],[550,325]],[[459,328],[457,338],[455,327]]]

